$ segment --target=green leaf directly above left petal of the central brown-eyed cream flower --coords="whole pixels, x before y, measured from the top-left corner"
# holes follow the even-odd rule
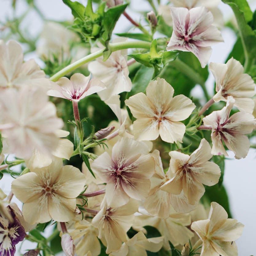
[[[153,73],[153,67],[141,66],[132,80],[132,90],[127,94],[127,98],[136,93],[145,92]]]

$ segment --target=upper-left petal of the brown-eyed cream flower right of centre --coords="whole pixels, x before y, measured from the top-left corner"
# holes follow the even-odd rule
[[[137,93],[124,103],[130,108],[135,118],[145,118],[155,116],[155,106],[144,93]]]

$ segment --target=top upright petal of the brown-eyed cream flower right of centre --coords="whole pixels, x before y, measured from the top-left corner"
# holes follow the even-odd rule
[[[146,90],[147,97],[154,104],[158,113],[166,112],[171,104],[173,93],[174,89],[172,86],[160,77],[150,82]]]

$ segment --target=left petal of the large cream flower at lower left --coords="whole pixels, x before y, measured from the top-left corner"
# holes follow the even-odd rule
[[[41,192],[41,179],[34,172],[29,172],[19,176],[12,181],[12,192],[22,202],[25,203],[33,196]]]

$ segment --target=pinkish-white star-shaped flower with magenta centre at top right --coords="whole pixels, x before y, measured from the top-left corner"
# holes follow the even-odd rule
[[[220,31],[212,26],[212,13],[205,7],[195,7],[190,10],[183,7],[170,9],[173,32],[167,51],[192,52],[204,68],[211,57],[211,45],[223,41]]]

